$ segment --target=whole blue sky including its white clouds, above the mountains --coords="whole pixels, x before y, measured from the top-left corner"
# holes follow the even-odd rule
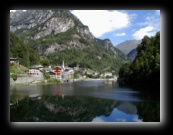
[[[109,38],[114,46],[140,40],[160,31],[160,10],[73,10],[97,38]]]

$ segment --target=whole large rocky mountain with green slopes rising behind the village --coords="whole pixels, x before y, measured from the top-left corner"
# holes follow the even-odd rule
[[[10,31],[53,65],[64,59],[67,65],[118,70],[128,60],[109,39],[95,38],[88,26],[67,10],[11,12]]]

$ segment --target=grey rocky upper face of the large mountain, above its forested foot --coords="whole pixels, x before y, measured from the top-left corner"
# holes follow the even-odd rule
[[[72,48],[100,45],[114,55],[126,56],[109,39],[96,39],[88,26],[66,10],[18,10],[10,13],[10,31],[32,46],[40,56]]]

